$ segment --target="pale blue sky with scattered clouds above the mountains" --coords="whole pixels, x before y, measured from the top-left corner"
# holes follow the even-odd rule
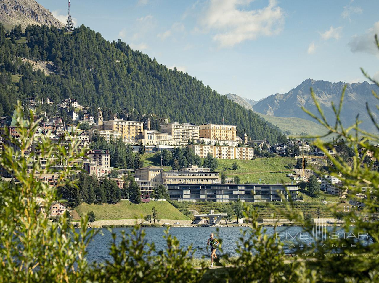
[[[64,20],[67,1],[37,0]],[[220,94],[262,99],[305,79],[379,79],[379,1],[71,0],[75,25],[121,38]]]

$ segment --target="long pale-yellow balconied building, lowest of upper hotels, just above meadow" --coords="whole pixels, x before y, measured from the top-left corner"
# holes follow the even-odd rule
[[[192,148],[194,153],[201,158],[206,158],[208,154],[219,159],[251,160],[254,157],[254,148],[252,147],[230,147],[205,144],[191,144],[187,146]]]

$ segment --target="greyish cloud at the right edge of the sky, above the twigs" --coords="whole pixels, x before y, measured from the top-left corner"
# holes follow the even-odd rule
[[[351,52],[366,52],[379,56],[379,51],[375,45],[374,35],[379,34],[379,22],[374,23],[364,34],[355,35],[348,45]]]

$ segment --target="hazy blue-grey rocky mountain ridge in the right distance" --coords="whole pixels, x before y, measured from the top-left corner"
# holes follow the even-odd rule
[[[324,80],[307,79],[288,93],[270,95],[255,104],[253,108],[254,111],[269,116],[297,117],[315,121],[301,109],[301,107],[304,106],[307,110],[317,114],[316,106],[310,95],[310,88],[312,87],[326,118],[329,122],[333,122],[335,115],[331,107],[331,102],[333,101],[338,105],[344,85],[347,86],[341,111],[341,121],[343,125],[347,127],[354,124],[356,116],[359,114],[359,120],[362,121],[360,126],[367,131],[374,131],[375,127],[366,112],[365,103],[368,102],[368,105],[374,111],[374,116],[377,119],[375,105],[378,104],[378,101],[371,91],[374,90],[378,93],[379,88],[368,82],[346,84],[344,82],[332,83]]]

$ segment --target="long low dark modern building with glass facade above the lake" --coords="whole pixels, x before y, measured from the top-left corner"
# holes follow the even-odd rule
[[[249,203],[282,201],[284,199],[296,200],[298,186],[284,185],[226,185],[226,184],[167,184],[170,199],[177,201],[215,201],[227,203],[229,201],[246,201]],[[289,193],[289,194],[288,194]]]

